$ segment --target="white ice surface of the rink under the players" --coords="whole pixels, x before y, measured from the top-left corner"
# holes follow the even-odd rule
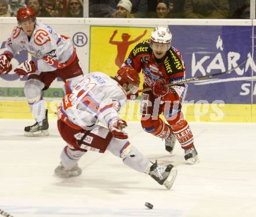
[[[24,137],[29,124],[0,119],[0,209],[15,217],[256,216],[256,124],[190,123],[200,163],[188,165],[179,144],[171,156],[163,141],[129,122],[138,150],[161,165],[176,165],[169,191],[109,152],[84,155],[79,177],[55,177],[65,146],[56,122],[50,121],[48,137]]]

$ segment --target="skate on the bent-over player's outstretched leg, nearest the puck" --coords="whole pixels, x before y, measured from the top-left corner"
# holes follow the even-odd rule
[[[163,184],[167,189],[170,189],[176,179],[177,170],[172,164],[166,166],[158,166],[157,161],[150,167],[149,175],[159,184]]]

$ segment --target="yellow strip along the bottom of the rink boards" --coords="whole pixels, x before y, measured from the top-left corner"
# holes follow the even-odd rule
[[[48,118],[56,119],[60,99],[47,101]],[[256,122],[256,105],[246,104],[183,104],[187,121],[193,122]],[[140,120],[140,103],[129,101],[120,116],[125,120]],[[0,119],[32,119],[26,101],[0,101]]]

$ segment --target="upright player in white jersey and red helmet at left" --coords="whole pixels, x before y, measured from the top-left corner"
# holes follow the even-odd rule
[[[42,91],[47,90],[56,77],[64,82],[79,80],[83,71],[79,65],[72,40],[56,33],[47,24],[37,22],[35,12],[30,7],[19,9],[16,26],[6,41],[6,49],[0,55],[0,74],[12,70],[13,56],[25,49],[33,56],[14,69],[20,76],[28,75],[24,86],[31,112],[36,120],[24,129],[25,136],[47,136],[48,120]]]

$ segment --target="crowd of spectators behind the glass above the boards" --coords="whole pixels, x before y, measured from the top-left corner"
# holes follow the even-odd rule
[[[88,17],[250,19],[250,0],[89,0]],[[83,17],[83,0],[0,0],[0,17]]]

